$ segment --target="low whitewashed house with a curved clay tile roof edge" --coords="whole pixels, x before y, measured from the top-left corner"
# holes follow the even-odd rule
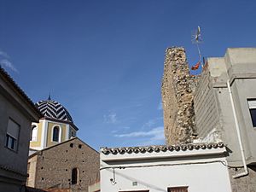
[[[101,192],[231,192],[223,143],[101,148]]]

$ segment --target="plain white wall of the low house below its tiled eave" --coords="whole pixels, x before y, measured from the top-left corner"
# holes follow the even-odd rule
[[[188,153],[193,154],[191,151]],[[166,192],[169,187],[179,186],[188,186],[189,192],[231,191],[228,168],[221,163],[225,162],[224,157],[140,160],[140,156],[145,158],[155,154],[161,155],[147,152],[125,154],[128,157],[125,160],[124,154],[113,154],[109,159],[108,154],[101,154],[101,192],[147,189]],[[114,160],[113,156],[123,160]]]

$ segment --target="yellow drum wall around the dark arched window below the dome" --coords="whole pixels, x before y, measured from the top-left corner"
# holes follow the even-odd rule
[[[48,131],[47,131],[47,147],[55,145],[57,142],[52,141],[52,129],[55,125],[58,125],[61,127],[61,142],[64,142],[66,140],[66,125],[55,123],[55,122],[49,122],[48,123]]]

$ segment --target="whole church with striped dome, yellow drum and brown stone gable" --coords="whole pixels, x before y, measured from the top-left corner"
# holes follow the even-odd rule
[[[39,123],[32,123],[26,185],[46,191],[88,192],[99,182],[99,153],[76,137],[67,108],[51,100],[36,103],[43,114]]]

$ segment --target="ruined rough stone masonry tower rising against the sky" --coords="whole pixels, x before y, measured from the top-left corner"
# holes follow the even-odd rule
[[[167,48],[161,88],[166,144],[191,143],[195,137],[194,90],[185,49]]]

